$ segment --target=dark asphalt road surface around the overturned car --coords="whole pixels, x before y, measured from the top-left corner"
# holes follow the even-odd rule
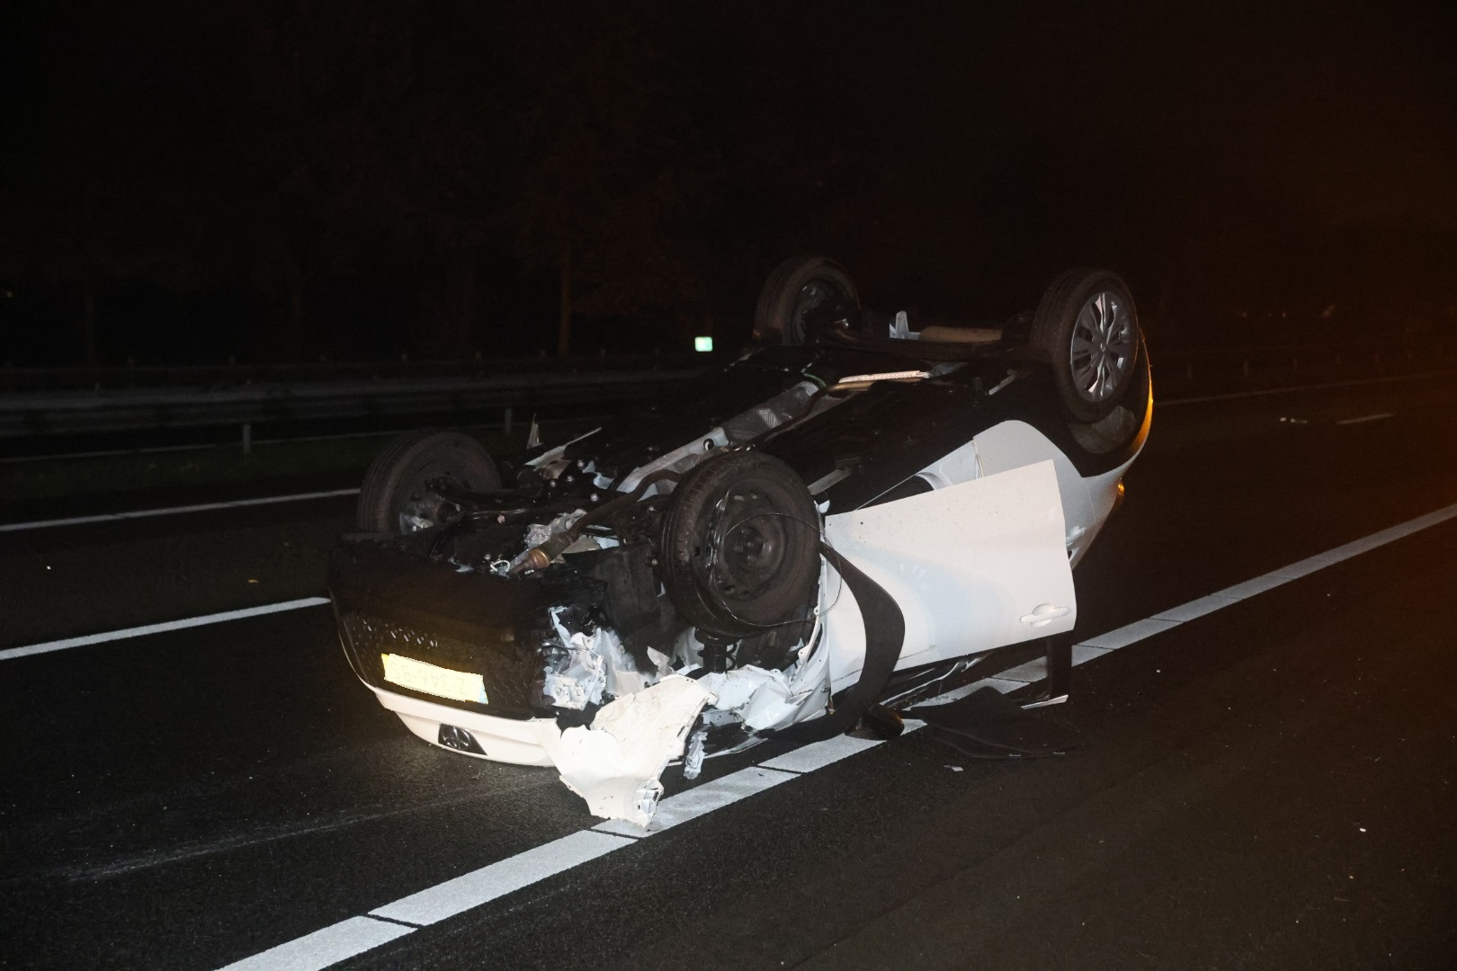
[[[1167,405],[1126,482],[1072,639],[1186,622],[1080,652],[1045,712],[1085,745],[911,732],[803,773],[761,747],[691,783],[750,795],[647,839],[584,833],[551,770],[417,741],[326,606],[0,655],[0,964],[1457,965],[1457,518],[1419,520],[1457,504],[1457,383]],[[0,533],[0,648],[321,595],[350,518]]]

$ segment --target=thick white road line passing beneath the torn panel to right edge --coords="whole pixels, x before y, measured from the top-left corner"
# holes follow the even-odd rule
[[[1351,559],[1352,556],[1377,549],[1405,536],[1410,536],[1412,533],[1418,533],[1421,530],[1437,526],[1438,523],[1445,523],[1447,520],[1451,518],[1457,518],[1457,504],[1444,507],[1434,512],[1428,512],[1426,515],[1416,517],[1415,520],[1407,520],[1406,523],[1399,523],[1397,526],[1393,526],[1390,528],[1338,546],[1333,550],[1327,550],[1326,553],[1319,553],[1316,556],[1297,560],[1295,563],[1291,563],[1276,571],[1271,571],[1269,574],[1263,574],[1262,576],[1244,581],[1243,584],[1237,584],[1217,594],[1209,594],[1206,597],[1190,600],[1189,603],[1180,604],[1177,607],[1161,610],[1151,617],[1145,617],[1144,620],[1135,620],[1134,623],[1125,625],[1115,630],[1109,630],[1094,638],[1088,638],[1087,641],[1080,641],[1078,643],[1072,645],[1072,664],[1074,665],[1087,664],[1088,661],[1106,657],[1119,648],[1126,648],[1132,643],[1138,643],[1139,641],[1145,641],[1157,633],[1163,633],[1166,630],[1171,630],[1173,627],[1182,626],[1187,620],[1203,617],[1214,613],[1215,610],[1222,610],[1224,607],[1237,604],[1241,600],[1256,592],[1279,587],[1281,584],[1289,582],[1291,579],[1295,579],[1298,576],[1305,576],[1314,572],[1316,569],[1323,569],[1333,563],[1343,562],[1346,559]],[[1236,590],[1246,592],[1236,595],[1231,592]],[[1045,664],[1046,664],[1045,659],[1037,659],[1027,665],[1021,665],[1021,668],[1014,668],[1014,671],[1002,671],[995,677],[982,678],[981,681],[976,681],[973,684],[965,684],[962,687],[953,689],[946,694],[921,702],[921,705],[947,703],[965,697],[983,686],[995,687],[998,691],[1002,691],[1004,694],[1008,691],[1024,689],[1027,687],[1029,681],[1023,681],[1018,680],[1017,677],[1008,677],[1008,675],[1016,673],[1020,677],[1026,677],[1030,675],[1036,667]],[[921,726],[922,722],[906,719],[905,731],[911,732]],[[835,764],[842,758],[848,758],[849,756],[858,754],[861,751],[868,751],[871,748],[879,747],[880,744],[881,742],[874,740],[851,738],[849,735],[841,735],[822,742],[803,745],[800,748],[796,748],[794,751],[775,756],[774,758],[769,758],[759,766],[749,766],[747,769],[740,769],[739,772],[730,773],[720,779],[714,779],[712,782],[707,782],[701,786],[696,786],[694,789],[686,789],[667,799],[663,799],[663,802],[659,804],[659,814],[654,815],[653,825],[645,831],[631,823],[624,823],[621,820],[608,820],[605,823],[599,823],[590,830],[578,830],[571,836],[565,836],[559,840],[545,843],[523,853],[517,853],[516,856],[510,856],[504,860],[498,860],[495,863],[484,866],[478,871],[472,871],[471,873],[466,873],[463,876],[456,876],[455,879],[437,884],[436,887],[430,887],[417,894],[398,900],[393,904],[377,907],[372,910],[370,914],[385,917],[389,920],[404,920],[411,924],[421,924],[421,926],[444,920],[446,917],[452,917],[472,907],[490,903],[497,897],[529,887],[565,869],[571,869],[573,866],[578,866],[580,863],[584,863],[590,859],[596,859],[597,856],[603,856],[625,846],[632,846],[634,843],[641,841],[644,837],[672,828],[679,823],[704,817],[712,812],[714,809],[720,809],[749,795],[763,792],[765,789],[771,789],[774,786],[778,786],[779,783],[797,779],[801,774],[809,774],[816,769],[823,769],[825,766]],[[796,756],[798,756],[800,753],[806,754],[800,760],[796,760]],[[580,839],[574,841],[574,837]],[[593,844],[592,837],[596,837],[599,843]],[[600,840],[610,840],[610,843],[600,843]],[[573,843],[570,849],[565,846],[568,843]],[[364,920],[364,919],[358,917],[354,920]],[[348,923],[350,922],[342,922],[339,924],[334,924],[334,927],[342,927],[344,924]],[[409,933],[411,930],[409,927],[402,927],[398,924],[392,926],[399,927],[401,933]],[[331,927],[326,927],[325,930],[331,930]],[[323,932],[316,932],[316,933],[323,933]],[[268,954],[281,952],[284,948],[290,948],[291,945],[307,939],[309,938],[299,938],[297,940],[278,945],[277,948],[265,951],[256,956],[261,958]],[[380,943],[383,943],[383,940]],[[373,948],[377,945],[369,945],[369,946]],[[369,948],[363,948],[361,951],[364,949]],[[354,956],[354,954],[360,952],[351,952],[342,955],[338,959],[342,961],[344,958]],[[254,958],[248,958],[248,961]],[[284,967],[284,965],[264,965],[264,964],[251,965],[239,962],[236,965],[229,965],[224,971],[233,971],[235,968],[245,968],[246,971],[265,971],[274,967]],[[313,968],[322,968],[325,965],[299,965],[299,967],[307,967],[312,971]]]

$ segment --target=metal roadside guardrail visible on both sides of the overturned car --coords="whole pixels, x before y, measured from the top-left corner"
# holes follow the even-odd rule
[[[1457,357],[1437,341],[1422,345],[1155,345],[1151,355],[1157,379],[1190,386],[1384,374],[1447,364]],[[55,374],[12,368],[0,371],[6,379],[0,381],[6,389],[0,390],[0,441],[233,425],[242,428],[248,448],[255,424],[479,415],[491,409],[503,409],[504,424],[510,427],[516,408],[609,405],[659,396],[723,362],[705,357],[710,355],[532,358],[488,365],[390,361],[268,368],[108,368]],[[482,367],[492,373],[482,373]],[[79,377],[96,379],[96,386],[77,389]],[[192,383],[176,386],[179,380]],[[55,381],[71,383],[71,387],[57,389]]]

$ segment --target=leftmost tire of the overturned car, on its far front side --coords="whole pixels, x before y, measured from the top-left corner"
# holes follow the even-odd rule
[[[475,438],[420,428],[385,445],[370,463],[356,512],[358,528],[402,536],[450,521],[459,510],[428,489],[436,479],[452,479],[472,492],[501,488],[491,453]]]

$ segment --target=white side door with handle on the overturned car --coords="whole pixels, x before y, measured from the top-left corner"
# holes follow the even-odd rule
[[[1072,629],[1077,597],[1059,485],[1053,461],[1036,461],[825,520],[830,546],[900,606],[898,667]],[[864,665],[865,635],[849,590],[838,578],[828,587],[838,691]]]

